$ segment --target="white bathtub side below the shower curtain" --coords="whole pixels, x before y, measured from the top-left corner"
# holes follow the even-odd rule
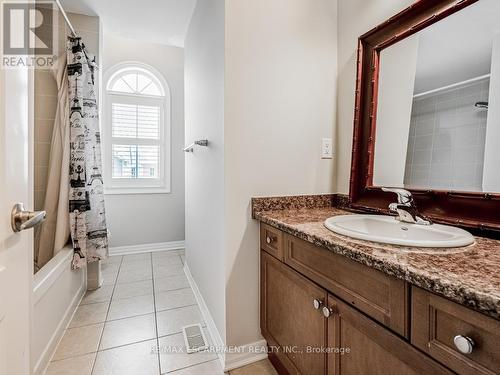
[[[73,249],[65,247],[33,279],[31,365],[42,375],[87,289],[86,269],[71,270]]]

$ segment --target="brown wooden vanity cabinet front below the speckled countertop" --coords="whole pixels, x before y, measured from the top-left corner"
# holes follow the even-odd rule
[[[410,301],[404,282],[264,229],[261,330],[278,372],[498,374],[499,321],[416,287]],[[473,338],[473,353],[457,351],[457,334]]]

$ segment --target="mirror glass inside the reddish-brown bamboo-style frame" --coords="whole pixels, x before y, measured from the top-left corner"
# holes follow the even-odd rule
[[[500,192],[500,2],[381,50],[373,185]]]

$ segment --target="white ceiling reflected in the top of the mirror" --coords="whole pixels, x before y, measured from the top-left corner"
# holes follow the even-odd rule
[[[490,73],[499,20],[500,1],[482,0],[419,32],[415,93]]]

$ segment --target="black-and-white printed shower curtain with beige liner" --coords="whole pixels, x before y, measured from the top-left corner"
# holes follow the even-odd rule
[[[58,108],[52,136],[47,220],[36,235],[37,265],[42,267],[71,237],[72,268],[108,256],[101,141],[95,93],[95,61],[80,38],[68,38],[56,79]]]

